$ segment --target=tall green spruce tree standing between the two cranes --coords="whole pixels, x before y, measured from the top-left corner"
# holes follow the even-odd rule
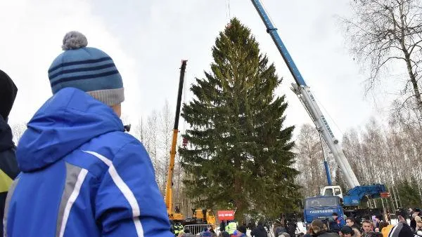
[[[191,128],[179,151],[188,195],[203,208],[232,202],[238,219],[295,208],[294,127],[283,128],[288,104],[274,95],[281,83],[274,64],[236,18],[219,33],[212,56],[212,72],[196,79],[195,97],[181,113]]]

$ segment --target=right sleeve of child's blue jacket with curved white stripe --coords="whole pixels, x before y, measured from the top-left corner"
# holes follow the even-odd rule
[[[143,145],[133,138],[108,166],[95,198],[102,236],[174,236]]]

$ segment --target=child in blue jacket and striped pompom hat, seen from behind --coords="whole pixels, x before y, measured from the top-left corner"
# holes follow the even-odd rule
[[[34,114],[8,192],[8,237],[172,237],[151,159],[120,120],[111,57],[69,32],[49,69],[53,96]]]

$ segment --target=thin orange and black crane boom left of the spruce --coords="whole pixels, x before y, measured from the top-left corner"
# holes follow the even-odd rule
[[[173,171],[174,171],[174,158],[176,157],[176,144],[177,135],[179,133],[179,116],[181,107],[181,94],[183,92],[184,74],[186,69],[187,60],[181,61],[180,78],[179,78],[179,91],[177,93],[176,114],[174,115],[174,128],[172,137],[172,148],[170,150],[170,164],[167,172],[167,184],[165,187],[165,205],[167,206],[167,213],[170,217],[173,215]]]

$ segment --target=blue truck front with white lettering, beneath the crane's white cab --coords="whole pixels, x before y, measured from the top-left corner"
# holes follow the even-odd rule
[[[303,217],[304,224],[310,224],[314,219],[320,219],[323,222],[332,221],[333,212],[343,216],[343,207],[338,196],[314,196],[305,198]]]

